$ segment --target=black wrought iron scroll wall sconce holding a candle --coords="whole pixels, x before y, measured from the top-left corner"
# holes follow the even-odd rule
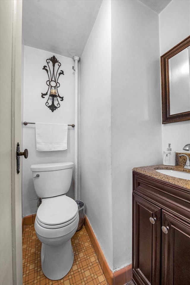
[[[52,62],[52,66],[49,64],[50,61]],[[63,101],[63,97],[61,97],[58,93],[58,88],[60,86],[58,79],[61,74],[64,75],[64,72],[63,70],[60,70],[60,72],[58,73],[61,63],[57,60],[55,55],[53,55],[51,58],[47,58],[46,62],[49,70],[47,69],[46,65],[43,67],[43,69],[47,72],[49,80],[46,81],[46,84],[48,86],[47,92],[42,93],[42,98],[45,98],[45,96],[50,91],[49,97],[45,105],[53,112],[60,107],[58,98],[60,99],[60,101]]]

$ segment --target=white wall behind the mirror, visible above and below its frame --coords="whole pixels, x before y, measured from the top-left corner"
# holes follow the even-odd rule
[[[160,55],[190,34],[190,1],[173,0],[159,14]],[[171,143],[172,150],[183,152],[190,143],[190,121],[162,124],[162,149]],[[187,151],[186,151],[187,152]]]

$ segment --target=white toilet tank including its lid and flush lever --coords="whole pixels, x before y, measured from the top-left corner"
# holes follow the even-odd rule
[[[34,188],[40,198],[55,197],[69,191],[74,163],[31,165]]]

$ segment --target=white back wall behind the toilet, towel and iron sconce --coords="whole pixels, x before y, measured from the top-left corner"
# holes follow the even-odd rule
[[[60,61],[60,70],[64,75],[59,77],[59,94],[64,96],[60,101],[60,108],[51,112],[45,106],[47,96],[43,99],[41,93],[46,93],[48,79],[45,70],[46,59],[53,55]],[[74,72],[72,66],[74,60],[61,55],[52,54],[44,50],[25,46],[24,50],[24,98],[23,98],[23,122],[51,122],[73,124],[75,120],[75,98],[74,98]],[[29,156],[23,159],[23,185],[22,185],[22,205],[23,216],[27,216],[37,211],[37,195],[34,190],[31,164],[54,163],[54,162],[74,162],[75,128],[68,127],[67,150],[39,152],[36,150],[35,125],[23,126],[23,149],[27,148]],[[74,173],[74,171],[73,171]],[[74,177],[74,176],[73,176]],[[73,181],[68,196],[74,198]]]

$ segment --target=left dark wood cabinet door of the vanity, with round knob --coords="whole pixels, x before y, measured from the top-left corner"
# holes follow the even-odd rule
[[[160,282],[160,217],[159,207],[133,194],[132,270],[138,285]]]

